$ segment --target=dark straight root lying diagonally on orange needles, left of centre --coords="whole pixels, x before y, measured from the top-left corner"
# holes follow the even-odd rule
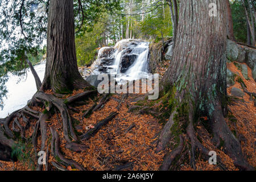
[[[88,140],[89,138],[93,137],[94,134],[97,133],[98,130],[102,128],[102,126],[106,125],[109,121],[111,121],[115,116],[117,115],[116,112],[113,112],[107,117],[106,119],[103,119],[102,121],[98,122],[96,126],[94,126],[93,129],[90,129],[87,133],[81,136],[81,140]]]

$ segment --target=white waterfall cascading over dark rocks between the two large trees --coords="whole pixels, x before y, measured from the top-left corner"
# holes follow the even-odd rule
[[[112,74],[118,84],[122,80],[148,77],[149,43],[141,39],[124,39],[114,47],[103,47],[91,67],[91,75]]]

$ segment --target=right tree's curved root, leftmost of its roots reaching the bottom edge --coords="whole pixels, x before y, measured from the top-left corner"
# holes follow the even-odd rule
[[[166,155],[164,158],[163,164],[160,167],[160,171],[168,171],[171,167],[172,162],[176,159],[178,155],[180,155],[181,151],[184,148],[183,137],[180,135],[180,144],[175,150],[171,151],[169,154]]]

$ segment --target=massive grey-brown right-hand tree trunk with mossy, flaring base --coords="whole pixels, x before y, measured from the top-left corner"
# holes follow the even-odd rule
[[[217,5],[217,16],[209,16],[209,4]],[[241,145],[228,129],[226,113],[226,3],[225,1],[181,0],[176,46],[171,66],[161,85],[172,90],[174,101],[169,121],[159,137],[157,151],[164,150],[172,136],[171,127],[177,115],[185,115],[187,134],[191,138],[192,154],[201,148],[193,134],[193,118],[207,114],[218,146],[224,141],[225,152],[241,169],[251,169],[243,158]],[[178,44],[179,43],[179,44]],[[181,130],[181,129],[180,129]],[[196,146],[195,146],[196,145]],[[206,151],[206,150],[204,150]],[[207,154],[208,155],[208,154]],[[195,155],[194,155],[195,157]],[[192,156],[193,158],[193,156]]]

